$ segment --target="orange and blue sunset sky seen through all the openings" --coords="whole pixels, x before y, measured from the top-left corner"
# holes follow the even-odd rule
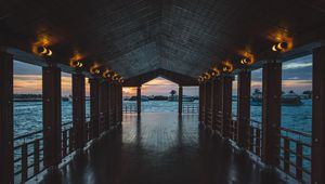
[[[41,67],[14,62],[14,93],[42,93],[42,76]],[[288,92],[294,90],[301,93],[312,89],[312,56],[303,56],[283,64],[283,91]],[[237,91],[237,81],[233,82],[233,93]],[[262,69],[257,69],[251,73],[251,91],[261,89]],[[171,90],[178,91],[178,84],[158,77],[142,86],[143,95],[169,95]],[[89,82],[86,82],[87,95],[89,95]],[[198,95],[198,88],[184,88],[184,95]],[[62,95],[72,94],[72,76],[62,74]],[[123,88],[123,95],[135,95],[134,88]]]

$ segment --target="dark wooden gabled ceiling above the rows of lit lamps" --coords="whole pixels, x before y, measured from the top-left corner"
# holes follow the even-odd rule
[[[236,65],[243,51],[262,58],[278,35],[295,47],[320,41],[324,23],[321,0],[3,0],[0,44],[31,52],[47,40],[51,61],[79,53],[86,70],[196,78],[223,60]]]

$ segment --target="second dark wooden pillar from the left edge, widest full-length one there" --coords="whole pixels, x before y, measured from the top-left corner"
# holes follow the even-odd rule
[[[43,149],[44,167],[55,169],[62,158],[61,135],[61,69],[43,67]]]

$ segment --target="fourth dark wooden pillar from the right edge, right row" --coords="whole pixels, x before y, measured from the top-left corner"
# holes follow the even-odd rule
[[[222,136],[230,137],[232,121],[233,77],[224,76],[222,79]]]

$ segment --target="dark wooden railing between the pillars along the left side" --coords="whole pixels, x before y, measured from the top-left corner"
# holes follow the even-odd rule
[[[92,137],[91,121],[86,122],[86,141]],[[62,124],[62,157],[65,158],[75,149],[73,122]],[[43,130],[17,135],[14,137],[14,183],[24,183],[44,171]]]

